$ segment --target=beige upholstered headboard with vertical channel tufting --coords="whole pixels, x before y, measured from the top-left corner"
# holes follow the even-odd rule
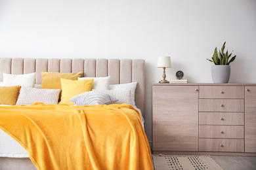
[[[144,59],[57,59],[1,58],[0,81],[3,73],[22,75],[36,72],[35,84],[41,84],[41,71],[78,73],[83,76],[110,76],[110,84],[138,82],[135,103],[144,116],[145,61]]]

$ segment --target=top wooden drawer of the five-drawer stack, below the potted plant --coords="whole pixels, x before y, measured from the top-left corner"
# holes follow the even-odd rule
[[[244,86],[200,86],[199,98],[244,99]]]

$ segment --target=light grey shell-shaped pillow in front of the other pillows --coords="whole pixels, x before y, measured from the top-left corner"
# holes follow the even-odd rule
[[[112,95],[95,91],[81,93],[70,99],[70,101],[75,103],[75,105],[77,106],[110,105],[115,103],[117,100],[118,99],[116,97],[113,97]]]

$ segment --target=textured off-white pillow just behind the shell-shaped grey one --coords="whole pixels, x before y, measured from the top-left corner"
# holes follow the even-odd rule
[[[103,92],[108,93],[118,99],[116,101],[116,104],[123,104],[126,103],[128,105],[131,105],[132,99],[131,99],[131,90],[100,90],[100,89],[93,89],[93,92]]]

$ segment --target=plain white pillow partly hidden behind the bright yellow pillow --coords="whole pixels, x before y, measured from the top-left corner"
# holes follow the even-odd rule
[[[78,77],[78,80],[93,78],[92,89],[108,89],[110,76],[105,77]]]

